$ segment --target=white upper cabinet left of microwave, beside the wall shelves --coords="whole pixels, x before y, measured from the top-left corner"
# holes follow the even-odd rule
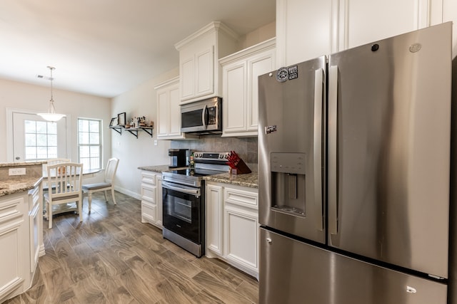
[[[181,108],[179,77],[157,85],[157,139],[180,140],[186,138],[181,132]]]

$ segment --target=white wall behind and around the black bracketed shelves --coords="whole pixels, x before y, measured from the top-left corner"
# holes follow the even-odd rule
[[[146,116],[146,121],[153,120],[156,125],[157,103],[154,86],[177,75],[179,69],[175,68],[113,98],[111,115],[116,117],[118,113],[126,112],[128,121],[134,116]],[[144,131],[139,131],[138,139],[126,130],[122,131],[122,135],[114,131],[111,133],[111,152],[114,157],[119,158],[118,172],[121,172],[116,175],[116,190],[139,199],[141,171],[138,167],[169,164],[170,141],[157,140],[156,129],[153,130],[152,138]],[[154,145],[154,141],[157,141],[157,145]]]

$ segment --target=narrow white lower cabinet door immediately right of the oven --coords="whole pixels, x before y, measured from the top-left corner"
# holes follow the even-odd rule
[[[218,253],[224,254],[222,247],[223,228],[223,201],[222,187],[206,185],[206,247]]]

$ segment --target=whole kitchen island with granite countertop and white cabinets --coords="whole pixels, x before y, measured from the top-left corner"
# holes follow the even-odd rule
[[[44,255],[42,164],[0,164],[0,303],[30,288]]]

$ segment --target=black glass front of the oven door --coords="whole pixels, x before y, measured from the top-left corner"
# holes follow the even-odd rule
[[[201,196],[162,189],[164,227],[186,239],[201,243]]]

